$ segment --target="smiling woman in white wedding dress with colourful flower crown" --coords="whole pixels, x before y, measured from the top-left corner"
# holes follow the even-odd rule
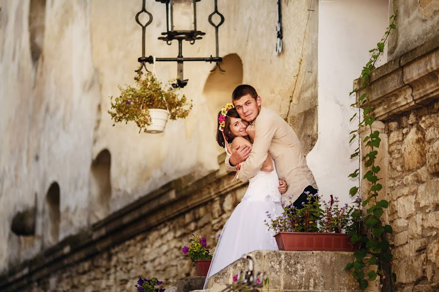
[[[226,148],[227,155],[231,155],[230,149],[236,146],[251,146],[247,126],[248,122],[239,117],[231,103],[220,111],[217,142]],[[249,180],[244,197],[221,231],[203,289],[206,289],[210,276],[244,254],[255,250],[278,250],[274,234],[267,230],[265,220],[267,213],[275,216],[282,214],[280,191],[285,193],[286,188],[284,181],[280,181],[279,186],[276,165],[268,154],[262,168]]]

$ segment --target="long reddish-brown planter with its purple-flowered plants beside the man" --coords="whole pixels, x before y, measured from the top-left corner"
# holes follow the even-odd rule
[[[282,215],[272,218],[268,214],[265,224],[276,232],[279,250],[354,251],[357,246],[351,245],[349,237],[359,232],[359,199],[356,205],[339,206],[338,198],[332,195],[330,201],[320,205],[319,194],[308,195],[303,208],[283,205]]]

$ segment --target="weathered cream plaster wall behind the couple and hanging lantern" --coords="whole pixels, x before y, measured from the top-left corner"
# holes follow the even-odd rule
[[[219,1],[226,19],[220,27],[220,55],[227,72],[210,73],[209,63],[185,64],[189,84],[183,92],[193,99],[194,110],[186,120],[169,122],[163,134],[138,134],[134,125],[111,127],[107,110],[109,96],[118,94],[118,84],[132,83],[138,65],[141,28],[134,16],[141,1],[0,3],[0,270],[166,182],[218,169],[217,155],[223,150],[214,139],[215,117],[233,88],[254,85],[263,104],[285,116],[302,51],[303,62],[317,54],[317,32],[305,36],[309,0],[282,2],[279,56],[274,50],[275,2]],[[164,5],[148,1],[147,9],[154,15],[146,33],[147,54],[176,56],[175,43],[157,40],[165,29]],[[197,4],[198,28],[206,36],[194,45],[185,43],[184,56],[214,54],[214,29],[207,22],[212,11],[213,1]],[[310,25],[317,27],[317,17]],[[156,70],[165,81],[177,69],[175,63],[159,63]],[[317,72],[299,76],[296,92],[310,93],[293,97],[297,109],[292,112],[311,122],[293,126],[307,129],[301,137],[309,151],[317,137],[317,96],[312,90]],[[107,162],[98,163],[106,151]],[[107,183],[101,185],[97,178]],[[60,188],[58,201],[47,200],[52,183]],[[111,194],[102,195],[108,189]],[[35,234],[12,233],[14,216],[33,207]],[[51,222],[57,216],[50,214],[60,214],[59,221]],[[49,226],[59,226],[59,231],[52,234]]]

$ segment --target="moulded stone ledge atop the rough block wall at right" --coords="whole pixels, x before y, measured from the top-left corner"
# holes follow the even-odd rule
[[[354,89],[361,80],[354,81]],[[439,98],[439,36],[387,62],[371,73],[369,86],[357,92],[357,99],[369,93],[377,120],[395,118],[403,112]]]

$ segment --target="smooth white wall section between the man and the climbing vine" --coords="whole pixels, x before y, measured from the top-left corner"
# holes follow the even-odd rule
[[[337,0],[319,3],[319,139],[306,157],[324,200],[329,195],[351,202],[349,189],[357,182],[347,176],[358,167],[350,159],[357,146],[349,145],[349,132],[356,110],[349,107],[353,98],[352,80],[367,63],[373,47],[387,27],[387,3],[382,0]],[[361,11],[361,13],[352,13]],[[338,17],[342,15],[343,17]],[[374,18],[373,23],[364,23]],[[349,23],[349,25],[346,25]],[[380,60],[380,64],[386,57]],[[358,124],[358,123],[357,123]]]

